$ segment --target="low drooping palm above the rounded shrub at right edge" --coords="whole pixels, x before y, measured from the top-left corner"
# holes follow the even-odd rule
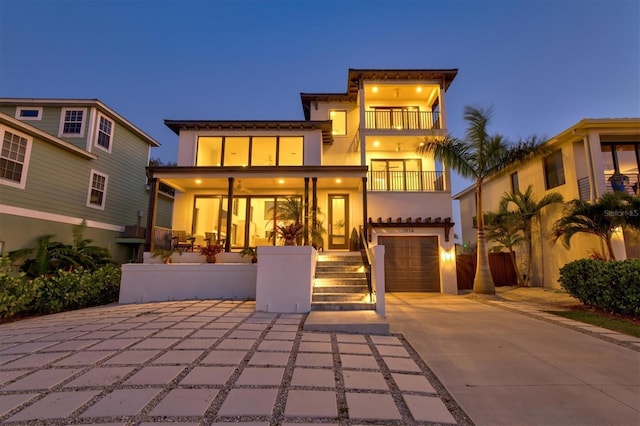
[[[554,225],[555,241],[562,238],[563,245],[570,248],[574,235],[595,235],[607,247],[608,259],[616,260],[611,244],[613,234],[622,226],[638,229],[639,203],[638,197],[626,192],[607,192],[593,203],[572,200]]]

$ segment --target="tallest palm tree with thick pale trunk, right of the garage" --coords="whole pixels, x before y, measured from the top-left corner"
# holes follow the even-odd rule
[[[460,176],[475,181],[478,262],[473,281],[473,292],[481,294],[495,294],[484,234],[482,183],[489,175],[543,151],[540,141],[535,137],[529,141],[510,146],[503,136],[490,135],[487,126],[492,113],[492,108],[482,109],[467,106],[464,109],[464,119],[469,125],[465,131],[464,140],[446,136],[440,141],[427,141],[418,148],[420,154],[432,154],[436,160]]]

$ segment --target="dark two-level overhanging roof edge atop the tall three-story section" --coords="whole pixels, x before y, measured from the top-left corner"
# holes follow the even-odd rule
[[[304,116],[308,120],[311,116],[311,102],[356,102],[361,80],[436,80],[443,83],[446,91],[458,74],[457,68],[452,69],[354,69],[349,68],[347,77],[347,91],[344,93],[300,93]]]

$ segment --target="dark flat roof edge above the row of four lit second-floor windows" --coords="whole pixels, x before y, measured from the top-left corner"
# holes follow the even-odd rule
[[[333,143],[331,120],[164,120],[164,124],[176,135],[181,130],[321,130],[322,142]]]

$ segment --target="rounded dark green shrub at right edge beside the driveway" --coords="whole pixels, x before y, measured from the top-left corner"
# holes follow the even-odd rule
[[[585,305],[640,316],[640,259],[580,259],[560,269],[560,284]]]

